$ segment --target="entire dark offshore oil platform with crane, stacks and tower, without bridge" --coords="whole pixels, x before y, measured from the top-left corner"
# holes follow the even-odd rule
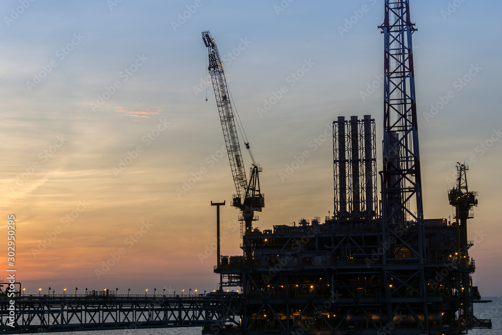
[[[253,159],[246,181],[222,62],[214,39],[202,33],[238,193],[232,204],[241,210],[243,251],[221,256],[218,245],[214,268],[221,293],[241,289],[233,311],[239,321],[203,333],[465,334],[491,328],[491,320],[473,314],[473,304],[486,301],[471,279],[467,219],[477,200],[467,188],[467,166],[457,165],[457,182],[448,191],[453,222],[424,218],[412,45],[417,29],[409,0],[386,0],[379,29],[385,45],[383,170],[376,171],[371,116],[338,117],[333,216],[264,231],[252,227],[254,212],[265,206],[261,168]]]

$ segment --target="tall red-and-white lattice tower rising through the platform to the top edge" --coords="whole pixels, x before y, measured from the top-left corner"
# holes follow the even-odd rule
[[[424,217],[418,142],[415,74],[409,0],[386,0],[384,142],[382,176],[382,255],[387,315],[413,315],[428,331],[424,278]],[[403,303],[405,297],[408,299]]]

